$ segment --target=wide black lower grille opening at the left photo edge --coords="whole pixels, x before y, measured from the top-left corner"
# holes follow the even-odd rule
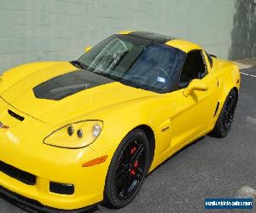
[[[12,165],[5,164],[0,160],[0,171],[2,171],[5,175],[11,176],[18,181],[24,182],[27,185],[35,185],[36,184],[36,176],[15,168]]]

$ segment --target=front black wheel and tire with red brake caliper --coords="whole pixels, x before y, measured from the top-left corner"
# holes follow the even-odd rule
[[[143,185],[148,167],[148,138],[143,130],[132,130],[119,144],[109,165],[106,204],[119,209],[131,203]]]

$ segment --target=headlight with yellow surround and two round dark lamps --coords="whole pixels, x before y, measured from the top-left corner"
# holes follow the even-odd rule
[[[100,120],[79,121],[67,124],[44,138],[44,143],[65,148],[81,148],[90,145],[102,132]]]

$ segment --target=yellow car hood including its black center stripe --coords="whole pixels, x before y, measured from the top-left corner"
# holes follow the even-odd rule
[[[66,64],[44,67],[6,89],[1,97],[47,124],[62,124],[115,104],[154,95]],[[96,118],[90,118],[96,119]]]

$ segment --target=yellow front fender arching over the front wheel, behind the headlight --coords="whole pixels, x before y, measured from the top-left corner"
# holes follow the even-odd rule
[[[171,100],[168,96],[156,95],[108,107],[101,112],[101,116],[98,113],[98,118],[104,123],[102,134],[90,147],[94,150],[117,147],[131,130],[140,125],[147,125],[153,130],[155,141],[160,141],[155,144],[154,153],[162,153],[169,147],[164,141],[168,141],[170,135],[168,131],[162,130],[169,125],[174,112],[174,103]],[[96,115],[91,116],[96,118]]]

